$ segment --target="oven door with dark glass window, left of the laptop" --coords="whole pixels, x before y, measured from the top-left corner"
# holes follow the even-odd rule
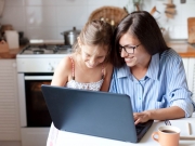
[[[52,74],[18,74],[21,127],[50,127],[51,117],[41,84],[51,84]]]

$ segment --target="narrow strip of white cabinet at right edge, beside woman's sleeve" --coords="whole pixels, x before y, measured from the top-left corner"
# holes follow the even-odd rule
[[[195,102],[195,58],[188,58],[188,89],[193,92],[193,101]]]

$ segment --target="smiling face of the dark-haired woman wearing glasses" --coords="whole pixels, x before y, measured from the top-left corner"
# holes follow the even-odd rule
[[[125,47],[127,52],[130,52],[127,53],[123,48],[120,48],[120,56],[125,58],[125,62],[129,67],[143,66],[145,65],[145,61],[148,61],[151,57],[139,39],[128,32],[120,38],[119,45]]]

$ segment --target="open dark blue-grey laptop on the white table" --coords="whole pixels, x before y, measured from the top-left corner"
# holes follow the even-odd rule
[[[42,84],[41,90],[58,130],[138,143],[153,120],[134,125],[130,97]]]

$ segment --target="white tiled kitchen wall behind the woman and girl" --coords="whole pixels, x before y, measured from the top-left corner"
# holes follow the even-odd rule
[[[195,17],[195,0],[172,1],[177,11],[173,18],[165,15],[167,0],[142,0],[141,9],[150,12],[156,5],[160,12],[157,22],[166,29],[168,38],[186,39],[186,19]],[[95,9],[103,5],[123,8],[128,2],[132,3],[132,0],[5,0],[0,24],[12,24],[29,39],[63,39],[61,32],[74,26],[81,29]]]

